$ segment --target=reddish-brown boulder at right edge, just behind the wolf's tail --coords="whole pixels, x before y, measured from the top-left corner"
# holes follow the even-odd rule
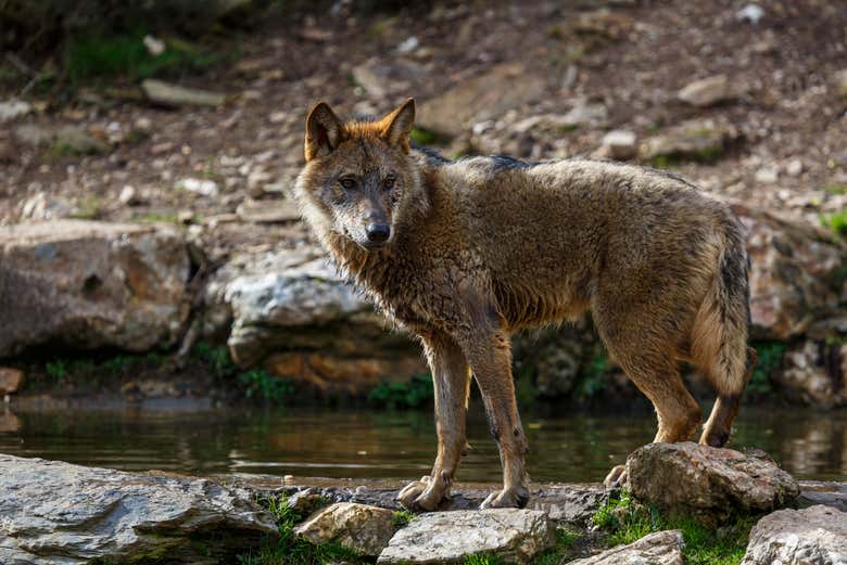
[[[847,246],[822,229],[785,220],[741,203],[733,211],[749,229],[750,316],[754,339],[786,342],[816,320],[840,312]]]

